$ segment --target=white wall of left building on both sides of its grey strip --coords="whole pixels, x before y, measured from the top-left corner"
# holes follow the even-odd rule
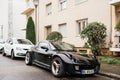
[[[13,37],[25,38],[26,16],[21,13],[26,9],[25,0],[13,0]],[[0,0],[0,25],[3,25],[3,38],[8,38],[8,0]],[[0,33],[1,34],[1,33]]]

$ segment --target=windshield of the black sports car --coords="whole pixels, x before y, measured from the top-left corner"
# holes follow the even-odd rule
[[[65,42],[53,42],[52,43],[57,50],[63,51],[75,51],[75,47]]]

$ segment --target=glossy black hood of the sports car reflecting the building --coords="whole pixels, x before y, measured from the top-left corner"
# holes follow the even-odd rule
[[[86,53],[80,53],[80,52],[60,52],[64,55],[66,55],[69,59],[74,61],[75,63],[83,63],[83,64],[94,64],[96,63],[96,58],[93,54],[86,54]]]

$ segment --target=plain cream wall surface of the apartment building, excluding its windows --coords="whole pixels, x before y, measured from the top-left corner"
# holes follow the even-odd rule
[[[107,43],[110,41],[110,4],[109,0],[85,0],[76,4],[76,0],[67,0],[67,8],[59,9],[59,0],[41,0],[39,3],[39,40],[44,40],[45,27],[51,25],[52,31],[59,31],[59,24],[67,23],[67,36],[63,41],[82,47],[85,40],[76,34],[77,20],[88,18],[90,22],[101,22],[107,27]],[[52,3],[52,14],[46,14],[46,5]]]

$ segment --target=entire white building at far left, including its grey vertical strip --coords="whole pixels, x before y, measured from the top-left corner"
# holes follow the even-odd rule
[[[9,37],[25,38],[26,16],[21,12],[26,8],[26,2],[22,0],[1,0],[0,25],[3,26],[3,39]]]

